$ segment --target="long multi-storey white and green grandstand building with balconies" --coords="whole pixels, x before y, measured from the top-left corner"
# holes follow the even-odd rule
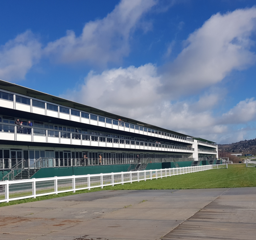
[[[4,180],[205,165],[218,158],[212,141],[2,80],[0,110]]]

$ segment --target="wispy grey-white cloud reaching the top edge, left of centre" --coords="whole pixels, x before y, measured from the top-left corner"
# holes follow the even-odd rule
[[[69,30],[67,36],[49,43],[45,53],[62,63],[87,61],[106,65],[119,62],[130,52],[132,31],[155,4],[155,0],[122,0],[105,18],[86,23],[81,36],[76,37],[74,31]],[[139,24],[143,26],[147,31],[149,25]]]

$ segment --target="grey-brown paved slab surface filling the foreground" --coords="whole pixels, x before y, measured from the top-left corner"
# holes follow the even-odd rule
[[[256,187],[116,190],[0,208],[0,239],[256,239]]]

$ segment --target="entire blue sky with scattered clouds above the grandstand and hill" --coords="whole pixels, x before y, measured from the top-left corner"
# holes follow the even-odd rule
[[[2,1],[0,79],[217,143],[256,134],[255,1]]]

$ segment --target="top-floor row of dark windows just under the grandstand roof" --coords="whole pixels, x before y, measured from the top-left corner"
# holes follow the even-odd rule
[[[2,99],[13,101],[13,94],[6,93],[6,92],[0,92],[0,93],[1,93],[0,97]],[[16,102],[26,104],[26,105],[30,105],[30,99],[29,98],[21,97],[21,96],[18,96],[18,95],[16,95]],[[45,108],[45,103],[32,99],[32,106],[37,107],[37,108]],[[46,108],[48,110],[58,112],[58,106],[57,105],[46,103]],[[64,107],[59,107],[59,108],[60,108],[60,113],[69,114],[69,108],[64,108]],[[70,113],[73,116],[79,116],[80,117],[80,111],[76,111],[76,110],[71,109]],[[155,133],[155,134],[159,134],[159,135],[163,135],[163,136],[167,136],[167,137],[172,137],[172,138],[177,138],[177,139],[187,140],[187,141],[193,141],[192,139],[189,139],[189,138],[185,138],[185,137],[181,137],[181,136],[177,136],[177,135],[172,135],[172,134],[169,134],[169,133],[166,133],[166,132],[160,132],[160,131],[156,131],[156,130],[153,130],[153,129],[148,129],[148,128],[136,126],[136,125],[133,125],[133,124],[108,119],[108,118],[105,118],[105,117],[100,117],[100,116],[96,116],[96,115],[92,115],[92,114],[90,114],[90,116],[89,116],[88,113],[81,112],[81,117],[88,118],[88,119],[90,118],[91,120],[104,122],[104,123],[108,123],[108,124],[113,124],[113,125],[119,125],[119,126],[123,126],[123,127],[126,127],[126,128],[136,129],[136,130],[140,130],[140,131],[144,131],[144,132],[151,132],[151,133]]]

